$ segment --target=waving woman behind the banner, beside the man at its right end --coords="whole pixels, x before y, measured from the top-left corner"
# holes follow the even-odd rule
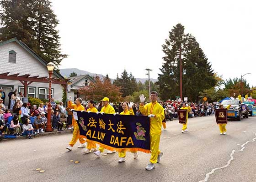
[[[128,110],[128,106],[129,106],[129,110]],[[128,104],[128,102],[123,102],[123,104],[122,104],[123,112],[121,112],[120,115],[132,115],[132,116],[134,116],[132,106],[133,106],[133,102],[130,102],[130,104]],[[119,156],[118,162],[124,162],[125,161],[125,156],[126,156],[126,150],[123,149],[121,152],[118,152],[118,156]],[[133,152],[133,158],[136,159],[137,157],[138,157],[138,152]]]

